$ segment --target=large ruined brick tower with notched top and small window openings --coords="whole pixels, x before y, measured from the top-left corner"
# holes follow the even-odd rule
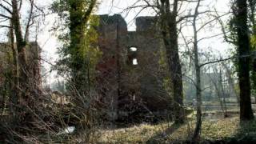
[[[99,19],[98,90],[107,117],[116,120],[170,110],[159,64],[163,42],[155,17],[136,18],[136,31],[128,31],[119,14],[99,15]]]

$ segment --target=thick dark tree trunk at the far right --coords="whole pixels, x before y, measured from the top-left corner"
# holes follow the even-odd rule
[[[238,34],[238,78],[240,86],[240,119],[254,118],[250,100],[250,40],[247,26],[247,2],[236,0],[237,11],[234,11]]]

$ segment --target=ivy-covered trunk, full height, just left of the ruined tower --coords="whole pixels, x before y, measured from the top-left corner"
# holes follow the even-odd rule
[[[76,129],[77,131],[90,129],[90,108],[85,106],[85,101],[88,101],[90,96],[90,75],[88,62],[82,49],[84,49],[86,26],[88,24],[90,14],[94,9],[96,0],[91,0],[90,3],[84,1],[70,1],[70,46],[67,54],[70,55],[71,70],[71,85],[73,102],[75,104],[74,114],[77,115]],[[83,6],[88,5],[87,10],[83,10]]]

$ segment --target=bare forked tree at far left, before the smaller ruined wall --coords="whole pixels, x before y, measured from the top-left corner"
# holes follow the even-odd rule
[[[35,18],[41,16],[42,14],[38,14],[36,10],[40,10],[38,6],[36,6],[34,0],[29,0],[30,3],[30,10],[28,17],[26,18],[26,22],[22,24],[21,21],[21,8],[22,8],[22,1],[17,0],[2,0],[0,2],[0,9],[3,11],[0,14],[0,18],[3,19],[1,21],[3,25],[0,28],[7,27],[10,30],[10,47],[13,51],[14,57],[14,91],[17,94],[14,94],[16,98],[16,102],[19,102],[19,105],[23,108],[26,107],[28,104],[32,106],[33,102],[30,98],[30,76],[29,70],[27,66],[27,58],[26,58],[26,46],[28,41],[29,29],[30,26],[34,24]],[[43,12],[42,12],[43,13]],[[6,25],[6,23],[10,23],[10,25]],[[25,25],[25,30],[22,30],[22,26]],[[23,33],[24,31],[24,33]],[[14,41],[15,40],[15,41]],[[14,98],[15,99],[15,98]]]

